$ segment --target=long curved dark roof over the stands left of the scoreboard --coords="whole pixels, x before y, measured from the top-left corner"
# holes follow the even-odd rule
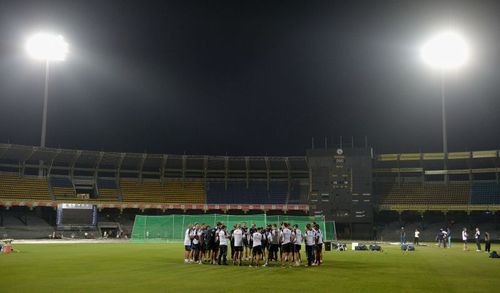
[[[175,154],[120,153],[92,150],[72,150],[16,144],[0,144],[0,161],[35,163],[106,169],[271,169],[307,170],[305,156],[203,156]]]

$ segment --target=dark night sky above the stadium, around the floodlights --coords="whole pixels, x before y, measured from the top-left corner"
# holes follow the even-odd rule
[[[44,65],[23,47],[48,30],[70,54],[51,66],[47,146],[440,151],[440,78],[418,50],[452,27],[473,56],[447,78],[449,149],[500,149],[497,2],[0,0],[0,142],[40,143]]]

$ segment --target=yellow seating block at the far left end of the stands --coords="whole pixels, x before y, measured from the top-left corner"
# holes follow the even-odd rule
[[[0,198],[50,200],[47,179],[38,177],[0,176]]]

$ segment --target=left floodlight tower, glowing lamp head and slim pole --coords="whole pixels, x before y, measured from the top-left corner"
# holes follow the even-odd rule
[[[68,43],[61,35],[49,33],[37,33],[26,41],[28,55],[45,62],[45,87],[43,97],[42,135],[40,146],[45,147],[45,136],[47,132],[47,102],[49,99],[49,68],[51,62],[64,61],[68,54]],[[40,161],[40,176],[43,175],[43,161]]]

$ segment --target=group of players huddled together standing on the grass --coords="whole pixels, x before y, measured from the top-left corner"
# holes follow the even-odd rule
[[[184,263],[210,263],[227,265],[228,246],[231,248],[233,265],[264,266],[272,262],[281,266],[300,266],[300,250],[305,244],[306,266],[317,266],[323,262],[323,233],[316,223],[307,224],[302,232],[298,225],[282,223],[268,224],[265,228],[250,228],[246,223],[236,224],[231,231],[224,223],[215,227],[206,224],[190,224],[184,236]],[[280,257],[278,261],[278,256]]]

